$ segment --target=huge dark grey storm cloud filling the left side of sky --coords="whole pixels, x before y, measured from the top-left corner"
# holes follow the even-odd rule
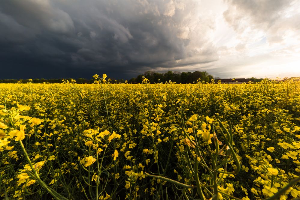
[[[0,79],[90,77],[102,72],[128,78],[146,69],[214,61],[214,46],[204,39],[189,46],[189,22],[200,20],[192,18],[196,4],[1,1]],[[202,28],[203,38],[205,32]]]

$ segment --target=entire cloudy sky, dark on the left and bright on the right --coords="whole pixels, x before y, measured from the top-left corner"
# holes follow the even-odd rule
[[[298,0],[2,0],[0,79],[300,76]]]

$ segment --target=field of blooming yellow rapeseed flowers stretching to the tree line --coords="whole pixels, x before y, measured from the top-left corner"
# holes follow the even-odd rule
[[[0,84],[1,199],[300,197],[300,82]]]

